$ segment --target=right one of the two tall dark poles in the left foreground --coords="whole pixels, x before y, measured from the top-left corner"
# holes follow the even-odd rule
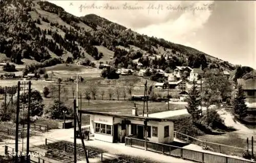
[[[29,81],[29,95],[28,95],[28,120],[27,120],[27,163],[30,162],[29,157],[29,129],[30,129],[30,103],[31,103],[31,81]]]

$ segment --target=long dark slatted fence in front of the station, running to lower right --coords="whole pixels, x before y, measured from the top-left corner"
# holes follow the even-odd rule
[[[125,137],[125,146],[145,149],[145,141],[142,139]],[[205,153],[153,142],[146,142],[146,150],[204,163],[255,163],[255,161],[246,159],[238,159],[224,155]]]

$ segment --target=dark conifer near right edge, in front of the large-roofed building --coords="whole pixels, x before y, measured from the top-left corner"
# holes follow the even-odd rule
[[[245,95],[242,85],[238,85],[238,90],[236,92],[236,97],[233,101],[233,111],[242,119],[247,116],[247,106],[245,104]]]

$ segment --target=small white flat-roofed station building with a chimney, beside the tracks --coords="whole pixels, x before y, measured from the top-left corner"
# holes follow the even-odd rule
[[[170,143],[174,140],[174,123],[171,120],[139,116],[136,106],[132,114],[90,110],[78,112],[90,114],[91,133],[100,141],[124,143],[126,136],[147,138],[155,143]]]

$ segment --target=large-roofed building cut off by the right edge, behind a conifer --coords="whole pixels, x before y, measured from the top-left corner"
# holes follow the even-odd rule
[[[238,79],[237,82],[243,87],[246,101],[248,103],[256,102],[256,79]]]

